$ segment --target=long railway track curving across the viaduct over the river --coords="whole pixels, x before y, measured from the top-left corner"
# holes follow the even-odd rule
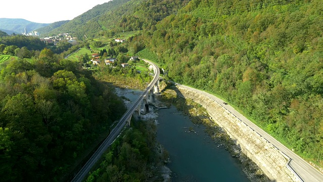
[[[106,151],[107,147],[109,147],[117,138],[117,136],[120,134],[124,126],[126,125],[126,122],[130,117],[132,116],[132,113],[137,109],[137,107],[141,104],[144,96],[146,96],[150,89],[153,88],[156,81],[159,79],[160,70],[157,65],[154,63],[143,60],[153,66],[154,70],[154,77],[150,81],[148,87],[144,91],[144,93],[136,100],[136,102],[129,108],[126,113],[121,117],[118,124],[115,128],[112,129],[110,134],[106,137],[106,139],[103,141],[103,143],[100,145],[100,147],[94,152],[94,154],[91,156],[91,158],[86,162],[86,164],[82,167],[82,169],[76,174],[76,176],[73,178],[73,182],[81,182],[83,178],[89,173],[93,165],[96,163],[96,161],[102,156],[102,154]]]

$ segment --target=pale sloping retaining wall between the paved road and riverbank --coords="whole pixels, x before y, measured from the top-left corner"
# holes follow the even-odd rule
[[[268,143],[260,134],[253,131],[216,101],[184,87],[177,87],[180,91],[178,96],[192,99],[201,104],[212,119],[227,131],[241,151],[255,162],[271,180],[299,181],[297,176],[287,167],[289,158],[271,143]]]

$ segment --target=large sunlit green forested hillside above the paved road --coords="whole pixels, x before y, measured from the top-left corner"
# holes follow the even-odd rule
[[[320,0],[193,0],[131,43],[323,164],[322,12]]]

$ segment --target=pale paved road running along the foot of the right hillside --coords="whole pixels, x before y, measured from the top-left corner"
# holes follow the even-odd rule
[[[178,83],[176,83],[176,84],[178,84]],[[240,114],[238,111],[236,111],[233,107],[231,107],[230,105],[223,104],[224,103],[223,100],[221,100],[221,99],[219,99],[219,98],[217,98],[217,97],[215,97],[215,96],[213,96],[211,94],[208,94],[208,93],[206,93],[204,91],[201,91],[201,90],[198,90],[198,89],[195,89],[195,88],[186,86],[186,85],[182,85],[182,84],[178,84],[178,85],[183,86],[183,87],[185,87],[187,89],[194,90],[194,92],[197,92],[199,94],[202,94],[204,96],[207,96],[207,97],[213,99],[214,101],[217,101],[224,108],[226,108],[232,114],[234,114],[235,116],[237,116],[237,118],[239,118],[241,121],[243,121],[248,126],[250,126],[254,131],[258,132],[268,142],[272,143],[281,152],[283,152],[289,158],[292,159],[292,161],[290,162],[290,167],[292,167],[292,169],[295,170],[295,172],[299,175],[299,177],[301,178],[301,180],[306,181],[306,182],[322,182],[323,181],[323,174],[321,172],[319,172],[318,170],[316,170],[309,163],[307,163],[306,161],[304,161],[301,157],[299,157],[294,152],[292,152],[287,147],[285,147],[283,144],[281,144],[280,142],[278,142],[270,134],[266,133],[265,131],[263,131],[262,129],[260,129],[258,126],[256,126],[255,124],[253,124],[251,121],[249,121],[247,118],[245,118],[242,114]]]

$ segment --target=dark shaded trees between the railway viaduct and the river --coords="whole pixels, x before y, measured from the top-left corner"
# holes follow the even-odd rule
[[[156,142],[153,121],[133,121],[103,155],[86,181],[163,181],[168,153]]]

